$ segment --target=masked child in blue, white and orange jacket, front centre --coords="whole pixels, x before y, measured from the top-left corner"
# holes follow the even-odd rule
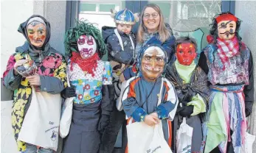
[[[166,51],[162,46],[148,45],[140,51],[138,59],[139,74],[128,79],[122,94],[123,110],[128,118],[148,126],[159,124],[161,120],[165,140],[170,146],[171,121],[179,102],[173,84],[162,76],[167,65]]]

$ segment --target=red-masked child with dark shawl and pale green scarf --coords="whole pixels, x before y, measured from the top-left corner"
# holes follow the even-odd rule
[[[173,152],[177,152],[176,130],[185,117],[193,127],[191,152],[200,152],[203,133],[201,124],[207,110],[210,90],[207,87],[207,75],[198,67],[196,58],[196,40],[189,37],[176,39],[176,61],[167,66],[165,77],[173,83],[179,99],[173,125]],[[181,140],[182,142],[182,140]]]

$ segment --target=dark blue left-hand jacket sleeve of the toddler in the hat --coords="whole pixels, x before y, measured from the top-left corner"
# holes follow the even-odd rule
[[[114,37],[114,35],[108,37],[108,51],[108,54],[110,54],[111,57],[114,58],[114,61],[118,63],[125,63],[130,65],[134,61],[132,55],[128,51],[122,51],[120,42],[116,37]]]

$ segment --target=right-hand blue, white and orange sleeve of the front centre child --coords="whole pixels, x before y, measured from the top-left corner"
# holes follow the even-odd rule
[[[162,102],[158,107],[156,107],[156,113],[159,119],[170,118],[170,120],[173,121],[179,100],[173,85],[167,81],[167,79],[164,81],[164,87],[166,88],[165,102]]]

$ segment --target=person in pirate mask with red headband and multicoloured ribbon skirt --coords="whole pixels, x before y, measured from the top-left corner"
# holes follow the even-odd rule
[[[245,152],[246,117],[252,112],[252,54],[241,41],[241,20],[232,13],[212,19],[209,45],[198,65],[210,82],[204,152]]]

